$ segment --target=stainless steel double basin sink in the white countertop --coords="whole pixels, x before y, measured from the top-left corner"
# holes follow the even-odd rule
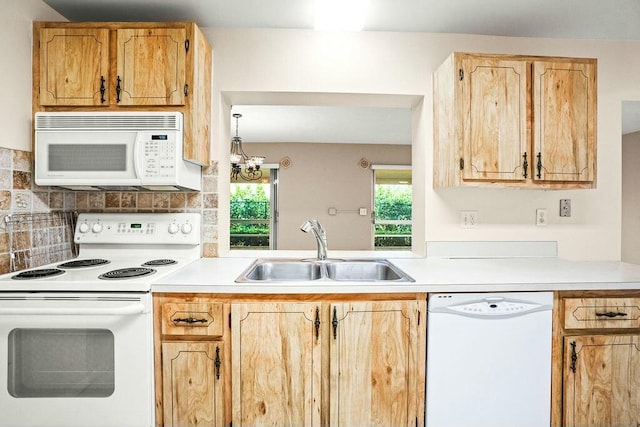
[[[259,258],[236,279],[255,282],[413,282],[413,278],[387,259]]]

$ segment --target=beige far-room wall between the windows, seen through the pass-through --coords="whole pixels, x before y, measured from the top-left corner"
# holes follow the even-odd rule
[[[315,249],[315,239],[300,225],[315,218],[327,230],[329,249],[370,250],[373,241],[371,164],[410,165],[411,147],[374,144],[243,144],[246,152],[266,156],[267,163],[283,157],[291,166],[278,178],[278,249]],[[328,209],[338,209],[335,216]],[[367,215],[360,216],[359,208]],[[342,212],[340,212],[342,211]],[[351,212],[345,212],[351,211]]]

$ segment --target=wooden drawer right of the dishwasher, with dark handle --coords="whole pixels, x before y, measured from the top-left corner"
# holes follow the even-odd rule
[[[564,327],[640,328],[640,298],[565,298]]]

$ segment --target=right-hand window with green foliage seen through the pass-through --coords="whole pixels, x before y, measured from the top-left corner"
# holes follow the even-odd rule
[[[373,167],[374,249],[411,250],[410,166]]]

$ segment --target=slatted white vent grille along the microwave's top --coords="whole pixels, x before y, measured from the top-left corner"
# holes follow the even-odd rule
[[[36,113],[43,130],[181,130],[182,113]]]

